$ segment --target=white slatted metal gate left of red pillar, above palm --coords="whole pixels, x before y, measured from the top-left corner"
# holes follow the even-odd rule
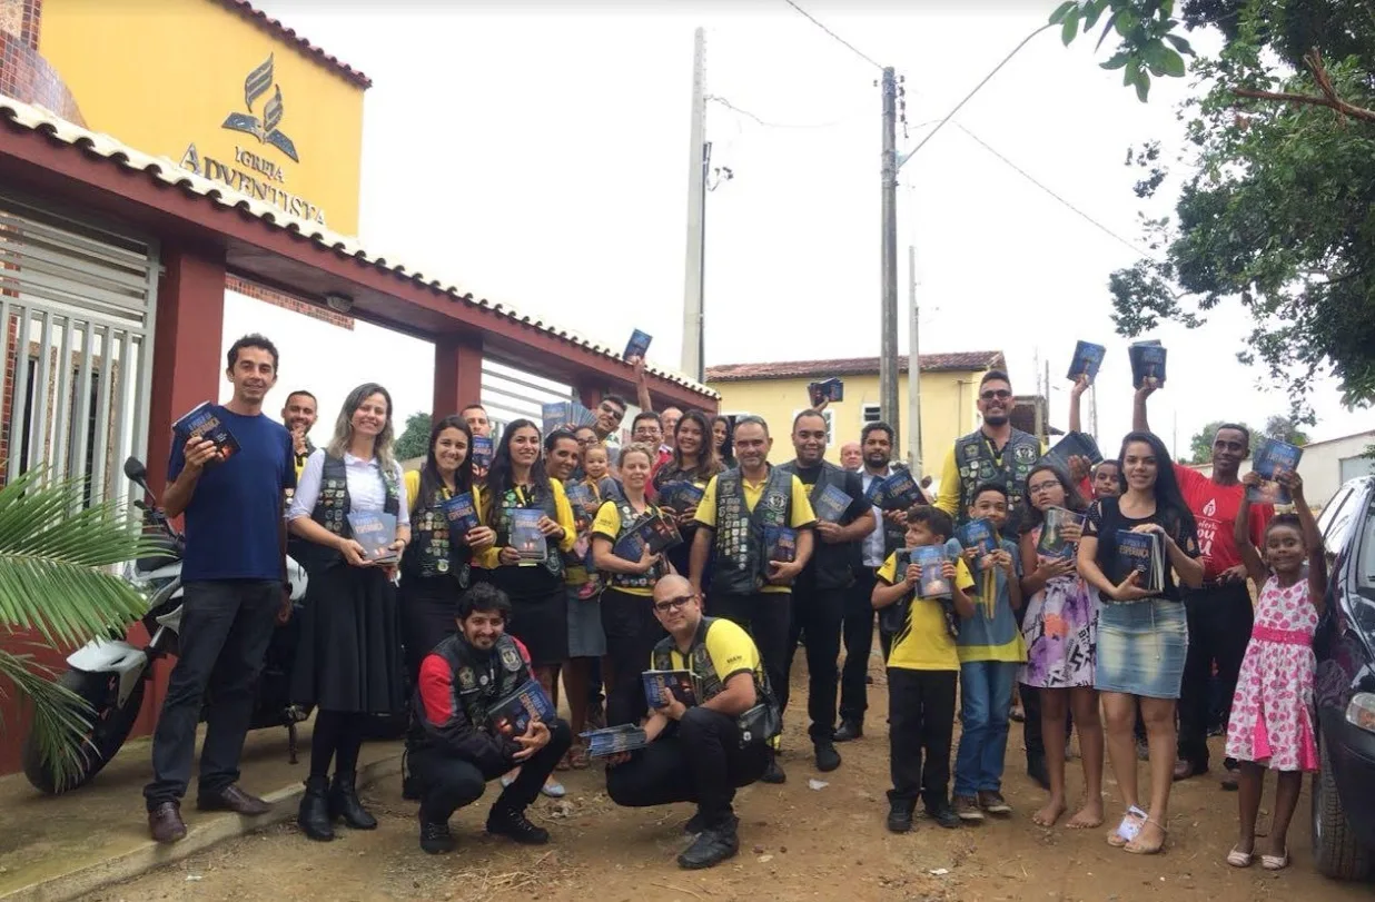
[[[47,466],[121,491],[148,439],[158,249],[0,194],[6,480]]]

